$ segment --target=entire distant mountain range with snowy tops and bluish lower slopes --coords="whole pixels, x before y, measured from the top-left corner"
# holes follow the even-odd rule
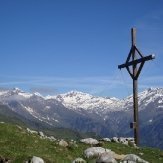
[[[163,149],[163,89],[139,93],[141,145]],[[42,96],[14,89],[0,89],[0,119],[19,119],[34,128],[67,128],[97,136],[133,136],[133,99],[95,97],[71,91]],[[12,116],[11,116],[12,115]]]

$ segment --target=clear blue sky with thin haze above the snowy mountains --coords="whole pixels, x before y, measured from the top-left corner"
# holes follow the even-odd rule
[[[130,50],[131,27],[141,52],[156,54],[139,91],[162,87],[162,0],[1,0],[0,87],[128,96],[131,79],[117,66]]]

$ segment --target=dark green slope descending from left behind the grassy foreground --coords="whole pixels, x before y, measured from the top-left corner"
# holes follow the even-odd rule
[[[48,126],[40,121],[29,121],[18,115],[16,112],[10,110],[7,106],[0,104],[0,121],[6,122],[8,124],[20,125],[23,127],[29,127],[34,130],[43,131],[46,135],[53,135],[56,138],[64,138],[64,139],[80,139],[85,137],[95,137],[95,133],[82,133],[77,132],[68,128],[62,127],[52,127]]]

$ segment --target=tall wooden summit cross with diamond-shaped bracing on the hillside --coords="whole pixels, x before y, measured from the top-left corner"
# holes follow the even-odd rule
[[[131,50],[128,54],[127,60],[124,64],[118,65],[118,68],[126,68],[133,80],[133,111],[134,122],[130,127],[134,129],[134,139],[136,145],[139,144],[139,121],[138,121],[138,77],[143,68],[145,61],[155,58],[155,55],[143,56],[143,54],[136,47],[136,29],[131,29]]]

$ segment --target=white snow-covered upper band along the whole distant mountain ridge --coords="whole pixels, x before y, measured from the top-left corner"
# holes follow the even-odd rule
[[[98,97],[88,93],[79,91],[70,91],[65,94],[59,94],[56,96],[43,97],[39,93],[27,93],[19,88],[13,88],[9,90],[0,90],[0,98],[2,100],[8,99],[20,99],[25,100],[29,98],[36,98],[40,100],[58,101],[66,108],[71,110],[88,110],[91,112],[107,113],[110,111],[131,110],[133,106],[133,97],[129,96],[124,100],[119,100],[110,97]],[[149,88],[138,96],[139,108],[143,110],[150,103],[155,103],[158,107],[163,108],[163,88]]]

